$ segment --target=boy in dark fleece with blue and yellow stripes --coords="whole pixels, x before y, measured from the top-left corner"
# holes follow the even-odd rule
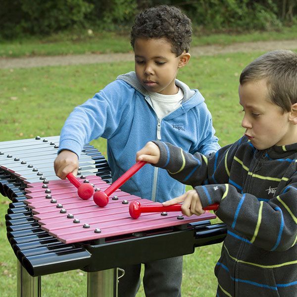
[[[210,156],[149,142],[137,160],[194,190],[166,201],[216,215],[228,232],[215,266],[217,297],[297,296],[297,54],[268,52],[240,77],[245,135]]]

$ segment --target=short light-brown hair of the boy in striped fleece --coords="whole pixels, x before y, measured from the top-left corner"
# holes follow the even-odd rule
[[[267,80],[268,98],[285,111],[297,103],[297,53],[291,50],[267,52],[242,71],[240,84]]]

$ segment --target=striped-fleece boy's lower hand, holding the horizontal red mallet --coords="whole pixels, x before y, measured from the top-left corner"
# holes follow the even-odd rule
[[[168,206],[181,202],[184,202],[182,204],[182,213],[186,216],[191,216],[192,214],[200,215],[205,212],[196,190],[190,190],[184,195],[165,201],[162,204]]]

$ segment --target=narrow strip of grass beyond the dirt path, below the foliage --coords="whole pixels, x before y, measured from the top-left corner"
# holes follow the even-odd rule
[[[279,31],[250,32],[243,34],[206,34],[194,30],[192,47],[203,45],[229,45],[235,42],[290,40],[296,39],[297,25],[284,27]],[[132,50],[129,33],[94,32],[88,31],[65,32],[49,37],[31,37],[14,41],[0,42],[0,57],[20,57],[36,55],[83,54],[128,52]]]

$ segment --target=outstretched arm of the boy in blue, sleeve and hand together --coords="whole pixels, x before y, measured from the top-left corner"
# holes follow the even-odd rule
[[[62,128],[58,156],[54,161],[54,170],[59,178],[65,179],[69,172],[76,175],[78,158],[86,143],[113,135],[124,121],[127,98],[133,95],[130,86],[117,80],[74,108]]]

